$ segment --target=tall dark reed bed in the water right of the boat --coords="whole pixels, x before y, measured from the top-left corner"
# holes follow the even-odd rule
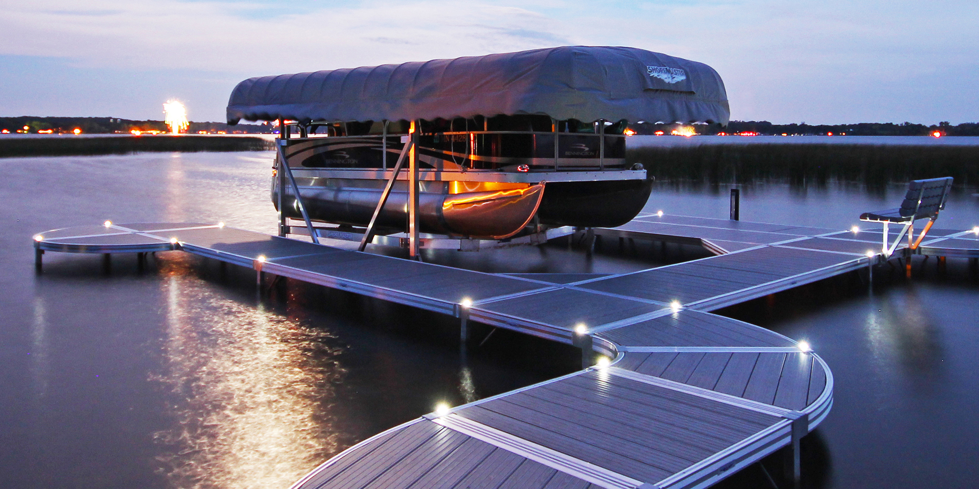
[[[956,187],[979,185],[979,146],[897,145],[701,145],[629,150],[651,177],[676,183],[745,184],[759,180],[790,185],[857,182],[869,190],[892,183],[955,177]]]

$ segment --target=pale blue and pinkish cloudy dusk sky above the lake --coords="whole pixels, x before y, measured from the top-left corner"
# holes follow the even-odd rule
[[[731,118],[979,120],[979,2],[0,2],[0,116],[224,120],[251,76],[560,45],[706,63]]]

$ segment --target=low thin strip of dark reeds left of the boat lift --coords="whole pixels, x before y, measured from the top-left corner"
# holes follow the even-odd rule
[[[94,156],[142,152],[244,152],[274,149],[272,141],[248,136],[107,136],[0,138],[0,157]]]

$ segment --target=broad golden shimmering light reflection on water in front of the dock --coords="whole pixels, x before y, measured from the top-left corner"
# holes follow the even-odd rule
[[[156,433],[172,487],[288,487],[338,450],[328,415],[345,374],[328,333],[215,293],[164,262],[174,427]],[[169,269],[165,269],[169,267]]]

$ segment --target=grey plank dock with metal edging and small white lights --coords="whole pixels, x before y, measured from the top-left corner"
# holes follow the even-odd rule
[[[110,222],[34,245],[38,269],[46,251],[183,250],[252,268],[259,282],[272,274],[451,315],[463,341],[477,321],[583,349],[582,371],[395,426],[294,489],[699,488],[786,446],[798,480],[799,439],[832,407],[829,368],[805,343],[710,311],[881,263],[881,233],[657,213],[595,234],[716,254],[625,274],[489,274],[220,224]],[[915,251],[979,256],[979,232],[931,236]]]

